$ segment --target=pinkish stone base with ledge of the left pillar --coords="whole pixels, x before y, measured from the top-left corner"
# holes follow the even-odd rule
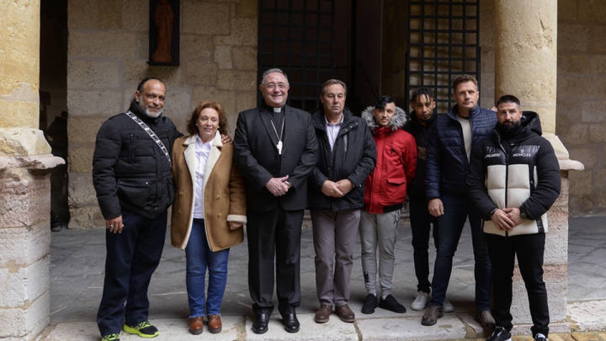
[[[48,177],[61,163],[50,154],[0,157],[0,339],[32,340],[50,321]]]

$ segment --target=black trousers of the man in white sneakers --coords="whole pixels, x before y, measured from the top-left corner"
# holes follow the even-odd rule
[[[417,291],[430,292],[429,282],[429,236],[433,224],[433,244],[438,248],[438,228],[436,218],[427,210],[427,200],[422,196],[410,196],[410,228],[412,229],[413,257],[415,259],[415,275]]]

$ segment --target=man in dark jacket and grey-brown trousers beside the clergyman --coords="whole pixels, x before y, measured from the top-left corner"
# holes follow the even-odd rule
[[[335,312],[354,322],[348,306],[353,245],[364,208],[364,181],[376,163],[372,133],[362,118],[345,108],[347,87],[328,79],[320,93],[322,109],[312,113],[318,162],[309,180],[309,209],[316,251],[317,323]]]

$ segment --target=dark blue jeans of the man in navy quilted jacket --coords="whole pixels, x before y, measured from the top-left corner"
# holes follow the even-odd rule
[[[450,282],[454,252],[459,244],[465,220],[469,218],[471,243],[473,245],[474,278],[476,280],[476,309],[490,309],[490,260],[482,220],[473,204],[465,195],[442,194],[444,215],[438,217],[438,254],[433,266],[431,282],[431,302],[429,305],[443,305]]]

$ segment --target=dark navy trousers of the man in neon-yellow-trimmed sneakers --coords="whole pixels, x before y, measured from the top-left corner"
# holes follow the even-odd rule
[[[147,288],[160,263],[167,213],[150,219],[122,212],[121,234],[105,231],[105,282],[97,314],[101,335],[147,321]]]

